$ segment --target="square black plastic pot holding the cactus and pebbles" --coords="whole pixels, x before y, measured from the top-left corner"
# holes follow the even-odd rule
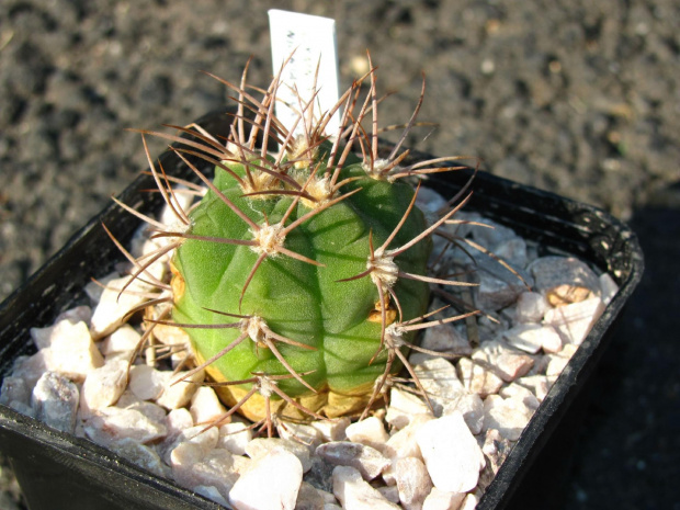
[[[229,122],[224,112],[199,121],[208,132],[223,136]],[[174,155],[166,152],[161,159],[169,173],[191,177]],[[196,163],[206,168],[202,161]],[[453,196],[469,174],[440,174],[443,177],[428,184],[444,196]],[[150,188],[151,178],[141,175],[121,200],[143,212],[157,211],[161,206],[160,195],[140,193]],[[574,254],[608,271],[620,285],[619,294],[535,412],[477,507],[528,508],[533,499],[526,495],[539,495],[542,499],[536,508],[554,508],[544,498],[546,494],[556,494],[555,490],[525,489],[531,484],[531,467],[541,466],[542,462],[555,462],[559,467],[570,457],[569,440],[575,438],[570,422],[579,417],[578,410],[573,411],[582,401],[577,396],[609,343],[616,316],[642,276],[642,251],[635,235],[607,213],[484,172],[475,179],[471,208],[539,242],[547,253]],[[18,356],[35,352],[29,335],[31,327],[47,326],[59,313],[88,303],[83,286],[91,277],[111,272],[121,260],[101,227],[102,222],[122,241],[129,239],[139,224],[112,204],[0,306],[0,375],[9,373]],[[568,422],[569,427],[560,429],[560,422]],[[565,435],[565,431],[570,433]],[[553,434],[564,437],[549,441]],[[0,406],[0,451],[10,460],[31,510],[222,508],[90,441],[53,430],[4,406]],[[546,487],[545,480],[542,487]]]

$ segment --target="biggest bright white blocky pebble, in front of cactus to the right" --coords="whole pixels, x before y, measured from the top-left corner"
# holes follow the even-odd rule
[[[424,423],[416,434],[434,486],[449,492],[466,492],[477,486],[484,454],[461,413]]]

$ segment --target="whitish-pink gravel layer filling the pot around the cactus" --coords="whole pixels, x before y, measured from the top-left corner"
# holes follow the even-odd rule
[[[141,331],[121,320],[132,302],[112,303],[117,292],[106,291],[92,293],[93,310],[78,307],[32,330],[38,352],[16,361],[0,403],[239,510],[473,509],[615,294],[611,277],[575,259],[529,260],[507,228],[485,236],[477,241],[524,260],[519,269],[530,267],[524,273],[539,282],[539,292],[486,271],[485,285],[473,293],[487,314],[474,321],[479,344],[468,340],[469,324],[426,331],[424,347],[457,356],[411,354],[434,415],[412,385],[397,384],[389,406],[361,422],[279,421],[280,438],[272,439],[253,438],[238,416],[209,428],[226,409],[212,387],[201,385],[203,371],[173,384],[188,373],[171,375],[172,366],[138,359],[127,378]],[[124,285],[117,274],[104,281]],[[170,328],[159,327],[159,338],[186,342]]]

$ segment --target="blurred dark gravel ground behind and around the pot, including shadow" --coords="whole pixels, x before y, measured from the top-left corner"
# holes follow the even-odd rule
[[[236,80],[252,55],[251,81],[268,82],[274,7],[336,18],[343,86],[371,50],[382,92],[396,92],[386,124],[408,118],[426,72],[420,118],[440,127],[411,145],[480,156],[497,175],[631,222],[647,272],[596,376],[565,508],[680,509],[673,0],[2,0],[0,298],[143,168],[125,127],[224,104],[200,70]]]

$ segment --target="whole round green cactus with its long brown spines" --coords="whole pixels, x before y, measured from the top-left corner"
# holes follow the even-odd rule
[[[256,99],[246,73],[239,86],[217,78],[238,94],[226,144],[200,126],[171,126],[189,138],[140,131],[143,138],[178,143],[171,149],[208,189],[183,211],[144,141],[159,190],[178,217],[171,228],[157,227],[155,237],[167,245],[139,260],[131,279],[144,277],[154,261],[172,253],[171,318],[149,319],[151,329],[162,324],[186,331],[196,361],[184,378],[205,370],[230,406],[227,416],[238,410],[270,434],[274,416],[365,416],[404,365],[427,400],[406,354],[420,349],[419,329],[442,322],[428,320],[430,285],[461,283],[427,273],[430,237],[460,204],[429,225],[415,205],[418,188],[408,182],[460,168],[449,165],[458,158],[403,165],[408,150],[401,145],[422,103],[424,78],[398,144],[381,158],[375,69],[330,112],[319,115],[314,98],[299,98],[297,124],[290,129],[273,112],[283,87],[279,77]],[[366,79],[370,90],[360,101]],[[326,126],[336,111],[342,111],[341,127],[329,136]],[[189,156],[214,165],[214,178]]]

